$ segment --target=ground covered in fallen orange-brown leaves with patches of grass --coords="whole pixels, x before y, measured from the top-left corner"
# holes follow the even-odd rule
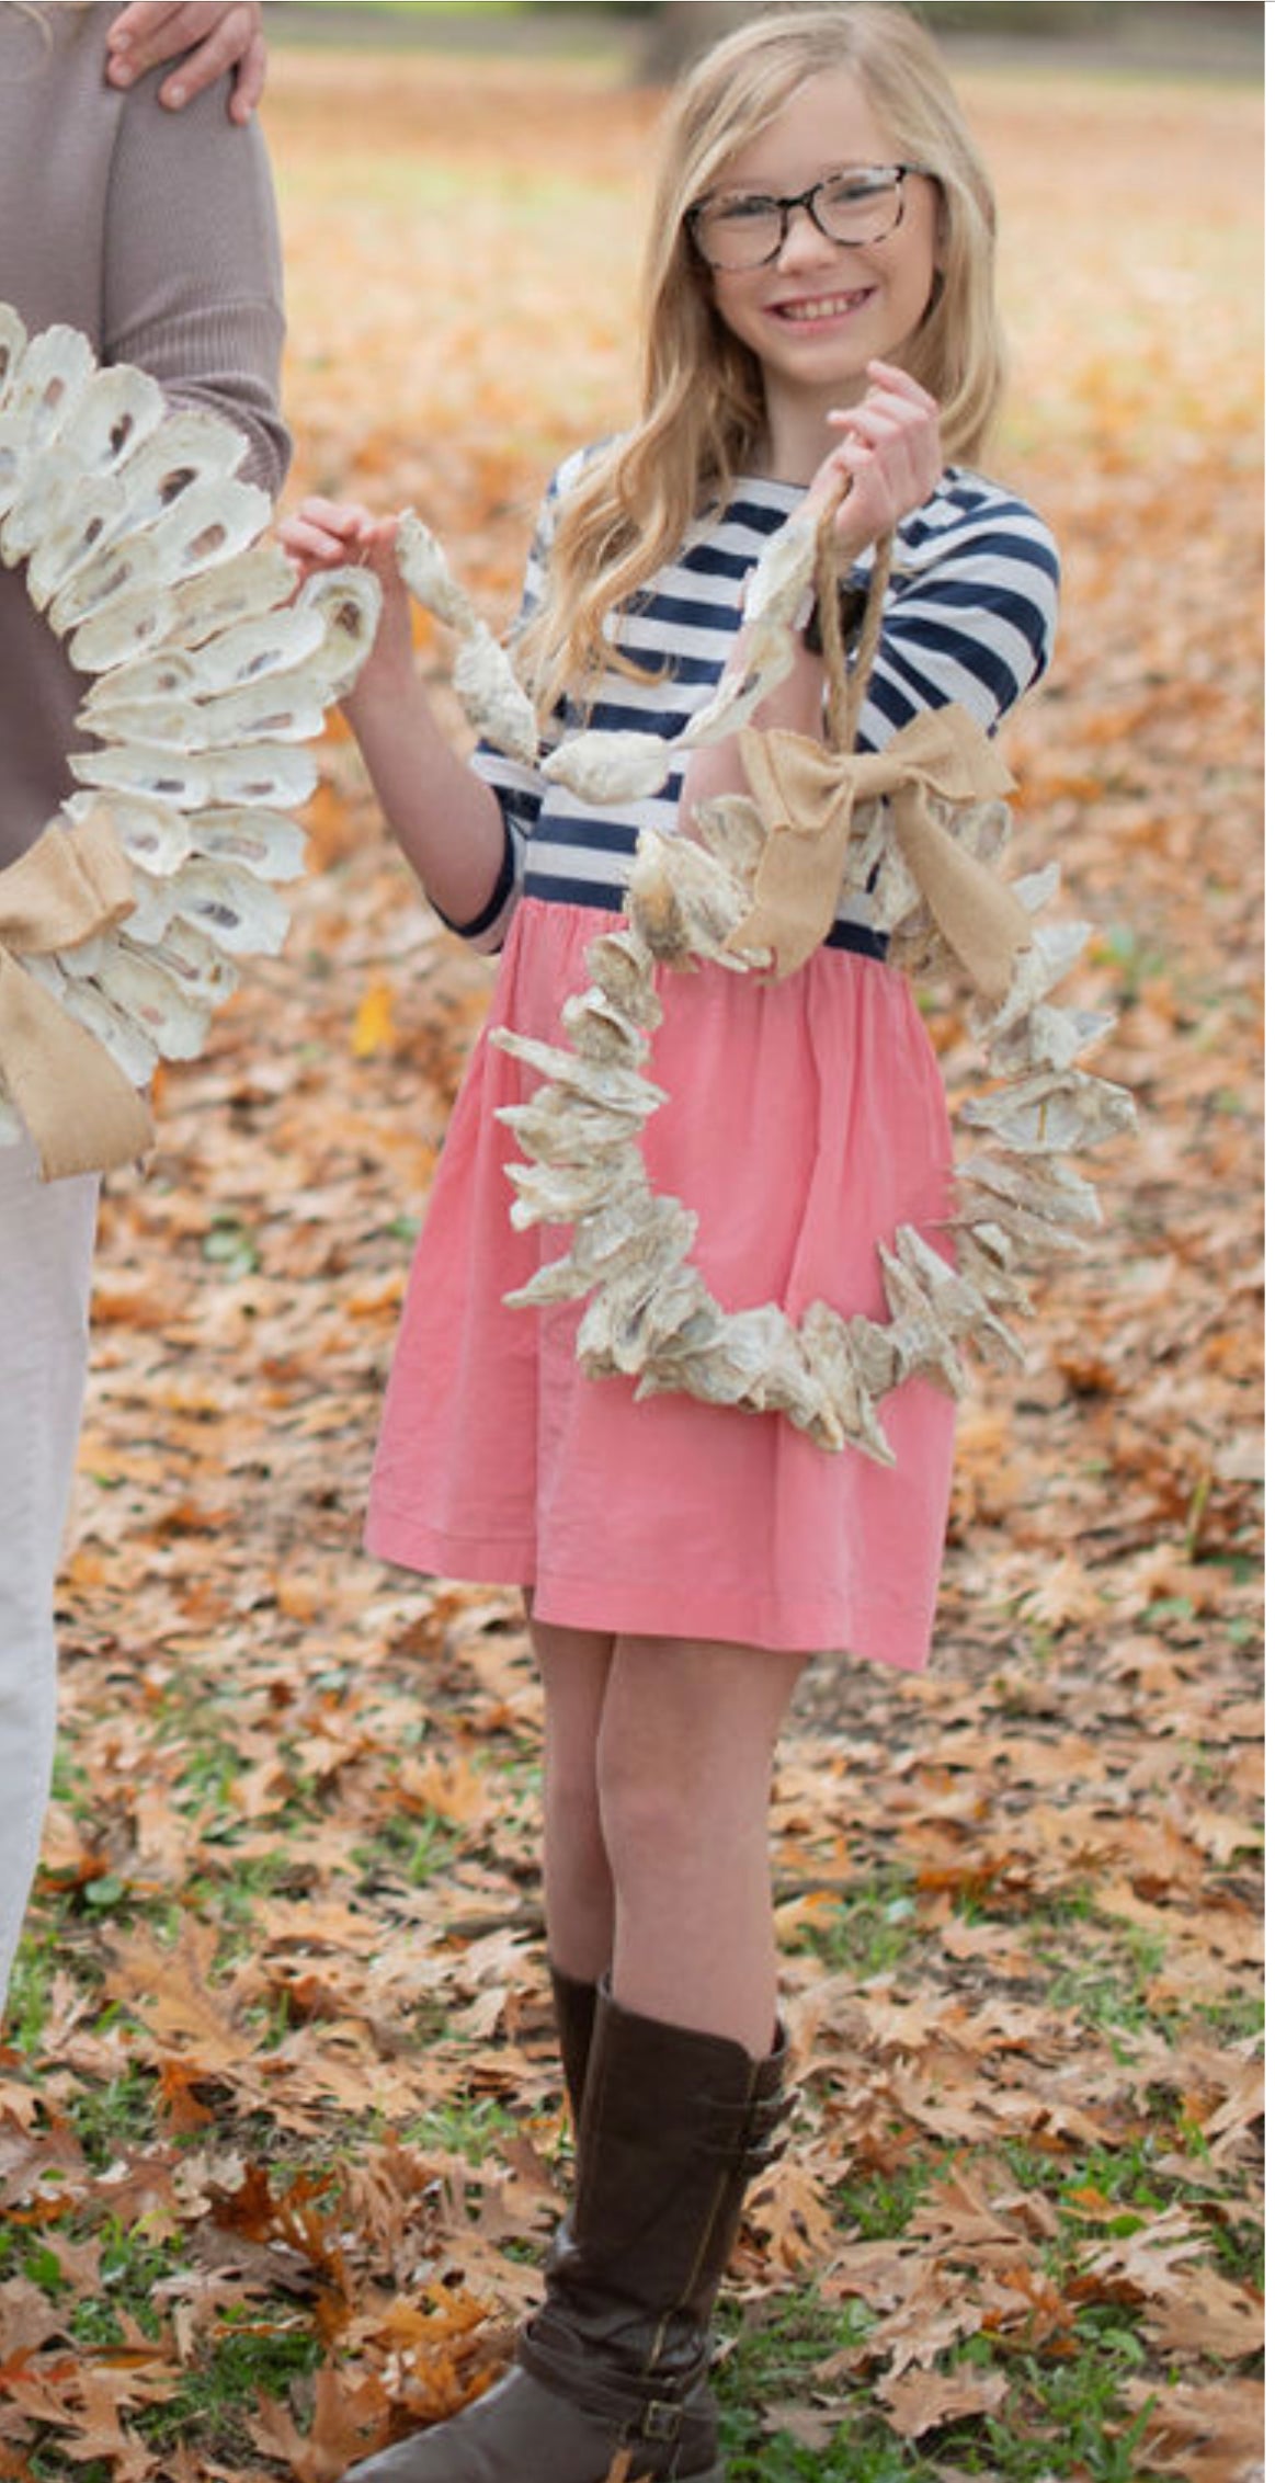
[[[964,79],[1002,472],[1066,559],[1024,867],[1138,1135],[979,1381],[935,1666],[818,1664],[775,1798],[800,2106],[726,2307],[733,2473],[1260,2456],[1260,99]],[[415,502],[495,623],[629,402],[656,97],[278,52],[293,489]],[[363,137],[360,137],[363,132]],[[442,648],[423,638],[423,663]],[[559,2210],[537,1688],[360,1507],[490,968],[333,737],[313,869],[112,1182],[65,1733],[0,2056],[0,2476],[331,2483],[460,2401]],[[957,1097],[959,1018],[935,1003]],[[636,2478],[634,2478],[636,2483]]]

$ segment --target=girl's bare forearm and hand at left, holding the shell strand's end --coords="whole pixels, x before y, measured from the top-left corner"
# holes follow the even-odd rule
[[[452,750],[415,668],[410,598],[395,561],[398,519],[306,499],[278,536],[301,576],[363,561],[383,593],[375,646],[343,700],[385,819],[430,904],[457,931],[487,914],[510,867],[497,795]]]

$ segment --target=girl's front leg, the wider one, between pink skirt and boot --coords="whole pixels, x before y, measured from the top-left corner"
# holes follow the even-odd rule
[[[775,2031],[770,1775],[803,1656],[616,1639],[596,1736],[626,2009],[731,2036]]]

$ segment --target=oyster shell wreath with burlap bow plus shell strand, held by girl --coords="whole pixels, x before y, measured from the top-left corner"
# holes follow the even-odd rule
[[[877,546],[852,675],[830,536],[820,544],[798,511],[770,536],[748,584],[746,670],[723,678],[676,740],[579,732],[547,752],[505,651],[413,511],[400,519],[398,564],[410,591],[460,631],[452,678],[475,728],[552,782],[587,802],[651,795],[679,755],[728,732],[741,732],[751,782],[748,797],[698,807],[701,842],[639,834],[624,924],[592,941],[594,981],[567,998],[562,1045],[492,1028],[490,1040],[544,1080],[529,1102],[500,1112],[527,1157],[505,1167],[517,1192],[510,1217],[519,1229],[572,1227],[569,1249],[505,1299],[532,1309],[592,1296],[577,1356],[592,1376],[631,1378],[639,1398],[683,1390],[713,1405],[783,1413],[825,1450],[857,1448],[892,1465],[880,1423],[892,1388],[922,1373],[959,1395],[962,1346],[1002,1368],[1024,1358],[1002,1316],[1031,1309],[1024,1264],[1084,1249],[1084,1232],[1101,1222],[1091,1182],[1064,1157],[1128,1130],[1133,1100],[1079,1068],[1113,1021],[1049,1001],[1091,934],[1084,921],[1034,924],[1056,894],[1056,869],[1014,889],[992,872],[1009,834],[999,792],[1012,780],[977,725],[947,708],[905,728],[885,752],[852,755],[890,541]],[[813,586],[828,651],[830,752],[798,735],[741,730],[790,668],[793,623]],[[726,1311],[691,1264],[696,1214],[651,1192],[641,1157],[641,1127],[669,1100],[646,1075],[661,1021],[656,966],[793,971],[830,929],[843,891],[867,899],[902,973],[967,973],[969,1030],[999,1090],[959,1110],[979,1152],[954,1169],[952,1259],[910,1224],[877,1242],[890,1318],[845,1318],[825,1301],[800,1321],[773,1301]]]

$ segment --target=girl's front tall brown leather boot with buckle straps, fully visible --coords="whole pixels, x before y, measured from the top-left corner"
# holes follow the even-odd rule
[[[743,2192],[775,2155],[783,2039],[768,2061],[596,1999],[577,2197],[517,2366],[450,2423],[345,2483],[726,2483],[706,2389],[708,2322]]]

